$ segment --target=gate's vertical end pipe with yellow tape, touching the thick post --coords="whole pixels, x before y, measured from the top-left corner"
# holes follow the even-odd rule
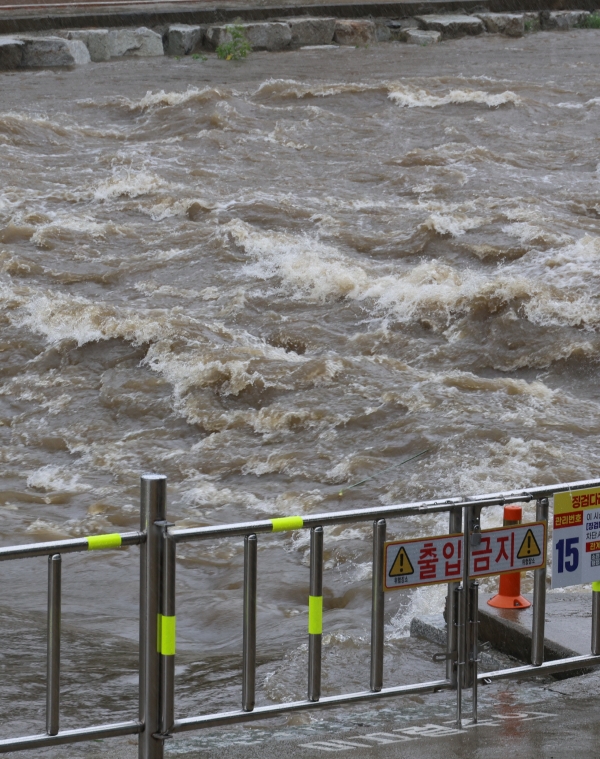
[[[175,572],[177,543],[168,523],[162,529],[162,588],[160,602],[160,732],[167,736],[175,721]]]

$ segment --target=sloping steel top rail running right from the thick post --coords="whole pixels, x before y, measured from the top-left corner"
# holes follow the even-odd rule
[[[451,508],[465,509],[476,505],[504,506],[510,503],[529,503],[535,498],[543,498],[554,495],[563,490],[578,490],[583,488],[600,487],[600,480],[582,480],[579,482],[560,483],[552,486],[531,488],[529,490],[511,491],[510,493],[492,493],[478,495],[469,498],[448,498],[444,501],[417,501],[408,504],[380,506],[369,509],[356,509],[355,511],[337,511],[327,514],[313,514],[303,518],[303,529],[309,529],[318,525],[344,524],[346,522],[365,522],[373,519],[391,519],[403,516],[415,516],[421,514],[436,514],[449,511]],[[295,528],[295,529],[302,529]],[[250,533],[265,533],[273,531],[273,523],[270,519],[257,522],[238,522],[237,524],[221,525],[216,527],[192,527],[188,529],[172,530],[171,534],[178,543],[192,540],[206,540],[217,537],[236,537],[249,535]]]

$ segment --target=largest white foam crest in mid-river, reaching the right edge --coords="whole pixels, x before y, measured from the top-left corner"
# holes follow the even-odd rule
[[[378,274],[315,236],[264,232],[240,220],[221,229],[253,259],[247,273],[280,278],[294,299],[344,297],[400,322],[433,320],[435,329],[483,304],[493,312],[510,303],[537,324],[600,325],[600,306],[589,295],[548,286],[539,275],[532,279],[519,262],[488,274],[430,260],[399,274]]]

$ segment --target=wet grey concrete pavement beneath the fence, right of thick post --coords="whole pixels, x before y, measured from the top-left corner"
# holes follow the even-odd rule
[[[508,683],[480,688],[479,720],[455,723],[455,694],[396,699],[379,708],[343,709],[301,725],[255,725],[179,736],[169,755],[223,759],[352,756],[384,759],[578,759],[597,756],[600,674],[567,682]],[[468,693],[467,695],[470,695]],[[229,744],[229,745],[225,745]]]

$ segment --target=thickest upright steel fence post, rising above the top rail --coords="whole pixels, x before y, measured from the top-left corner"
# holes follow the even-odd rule
[[[166,517],[167,478],[142,475],[140,500],[140,529],[146,540],[140,546],[140,721],[144,728],[139,738],[139,759],[163,759],[163,741],[155,737],[160,729],[158,613],[162,535],[156,522]]]

